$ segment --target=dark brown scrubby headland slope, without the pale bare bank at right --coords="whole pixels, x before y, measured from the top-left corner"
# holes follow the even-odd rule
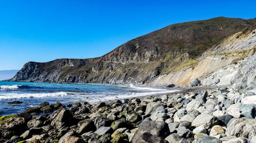
[[[255,19],[217,17],[173,24],[128,41],[99,58],[29,62],[10,80],[187,84],[191,77],[178,81],[184,79],[181,77],[187,72],[184,68],[199,65],[206,58],[206,54],[219,50],[214,47],[234,34],[252,31],[255,23]]]

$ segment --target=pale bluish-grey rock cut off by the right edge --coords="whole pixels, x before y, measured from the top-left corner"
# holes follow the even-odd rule
[[[244,104],[239,106],[241,114],[247,118],[255,118],[255,104]]]

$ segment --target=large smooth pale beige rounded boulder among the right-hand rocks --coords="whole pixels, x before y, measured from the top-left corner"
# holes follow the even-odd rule
[[[217,117],[208,114],[201,114],[194,119],[191,125],[194,127],[204,126],[205,129],[209,129],[216,124],[218,124]]]

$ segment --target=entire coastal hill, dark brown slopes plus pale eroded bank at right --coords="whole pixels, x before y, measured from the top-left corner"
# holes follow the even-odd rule
[[[248,88],[255,84],[255,28],[256,19],[226,17],[172,24],[99,58],[29,62],[10,81],[184,85],[199,78]]]

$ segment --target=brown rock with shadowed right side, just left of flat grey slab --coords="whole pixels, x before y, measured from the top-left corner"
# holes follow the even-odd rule
[[[76,128],[76,132],[78,134],[83,134],[85,132],[93,131],[96,129],[94,122],[90,119],[82,120],[78,123],[78,127]]]

